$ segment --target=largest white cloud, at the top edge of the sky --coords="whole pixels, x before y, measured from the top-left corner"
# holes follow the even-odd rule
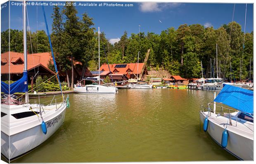
[[[175,8],[180,5],[181,3],[142,2],[139,9],[141,12],[161,12],[163,9]]]

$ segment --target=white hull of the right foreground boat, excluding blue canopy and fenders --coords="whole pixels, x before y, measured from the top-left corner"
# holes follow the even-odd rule
[[[204,119],[208,114],[209,112],[207,111],[200,112],[201,122],[204,122]],[[221,145],[222,133],[228,122],[228,145],[225,150],[236,156],[238,159],[253,160],[254,135],[253,131],[245,127],[245,124],[247,123],[232,120],[232,125],[229,125],[229,118],[218,116],[214,113],[211,113],[211,116],[208,116],[208,120],[207,132],[216,143]],[[253,123],[250,122],[248,127],[252,127],[253,130]]]

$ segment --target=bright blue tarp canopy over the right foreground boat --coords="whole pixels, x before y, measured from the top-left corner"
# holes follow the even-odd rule
[[[224,85],[213,101],[228,105],[239,111],[254,113],[254,92],[251,90]]]

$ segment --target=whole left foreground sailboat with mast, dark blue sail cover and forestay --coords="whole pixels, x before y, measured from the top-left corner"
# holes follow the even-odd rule
[[[1,92],[5,92],[8,95],[6,99],[1,100],[1,155],[8,162],[25,155],[52,136],[63,124],[67,104],[69,104],[68,97],[64,101],[64,95],[62,95],[61,103],[55,101],[54,104],[48,105],[29,104],[26,53],[26,1],[24,1],[23,9],[24,74],[21,79],[11,85],[1,81]],[[45,16],[44,9],[43,12]],[[47,23],[45,24],[47,25]],[[48,37],[50,41],[49,32]],[[53,52],[52,58],[55,64]],[[56,65],[55,69],[58,72]],[[58,77],[58,74],[56,76]],[[25,103],[19,102],[17,104],[17,101],[10,95],[21,91],[25,92]]]

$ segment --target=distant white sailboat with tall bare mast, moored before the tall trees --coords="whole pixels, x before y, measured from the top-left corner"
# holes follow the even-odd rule
[[[74,85],[74,92],[80,94],[115,94],[118,89],[115,87],[109,87],[100,85],[100,27],[98,28],[98,46],[99,46],[99,76],[97,77],[98,85],[85,85],[76,86]]]

